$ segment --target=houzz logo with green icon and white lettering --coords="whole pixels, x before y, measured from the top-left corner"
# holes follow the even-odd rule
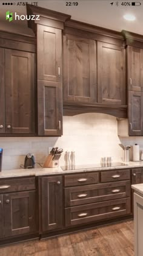
[[[21,21],[24,21],[24,20],[37,20],[39,21],[39,15],[18,15],[16,12],[15,12],[15,16],[13,15],[13,13],[10,11],[7,11],[6,12],[6,20],[9,20],[9,21],[12,21],[12,20],[21,20]]]

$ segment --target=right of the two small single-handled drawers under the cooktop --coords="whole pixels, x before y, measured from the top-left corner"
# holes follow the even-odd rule
[[[118,180],[129,180],[130,170],[114,170],[114,171],[102,171],[101,182],[112,182]]]

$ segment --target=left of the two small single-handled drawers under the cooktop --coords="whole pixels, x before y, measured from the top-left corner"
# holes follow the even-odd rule
[[[65,187],[95,184],[99,182],[99,173],[90,172],[90,173],[80,173],[80,174],[74,174],[74,175],[65,175],[64,181],[65,181]]]

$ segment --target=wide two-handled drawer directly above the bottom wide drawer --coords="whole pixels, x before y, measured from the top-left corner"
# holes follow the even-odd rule
[[[130,181],[65,188],[65,207],[130,197]]]

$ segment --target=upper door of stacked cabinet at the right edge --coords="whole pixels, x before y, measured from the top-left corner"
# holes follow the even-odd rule
[[[128,90],[143,91],[143,49],[127,47]]]

